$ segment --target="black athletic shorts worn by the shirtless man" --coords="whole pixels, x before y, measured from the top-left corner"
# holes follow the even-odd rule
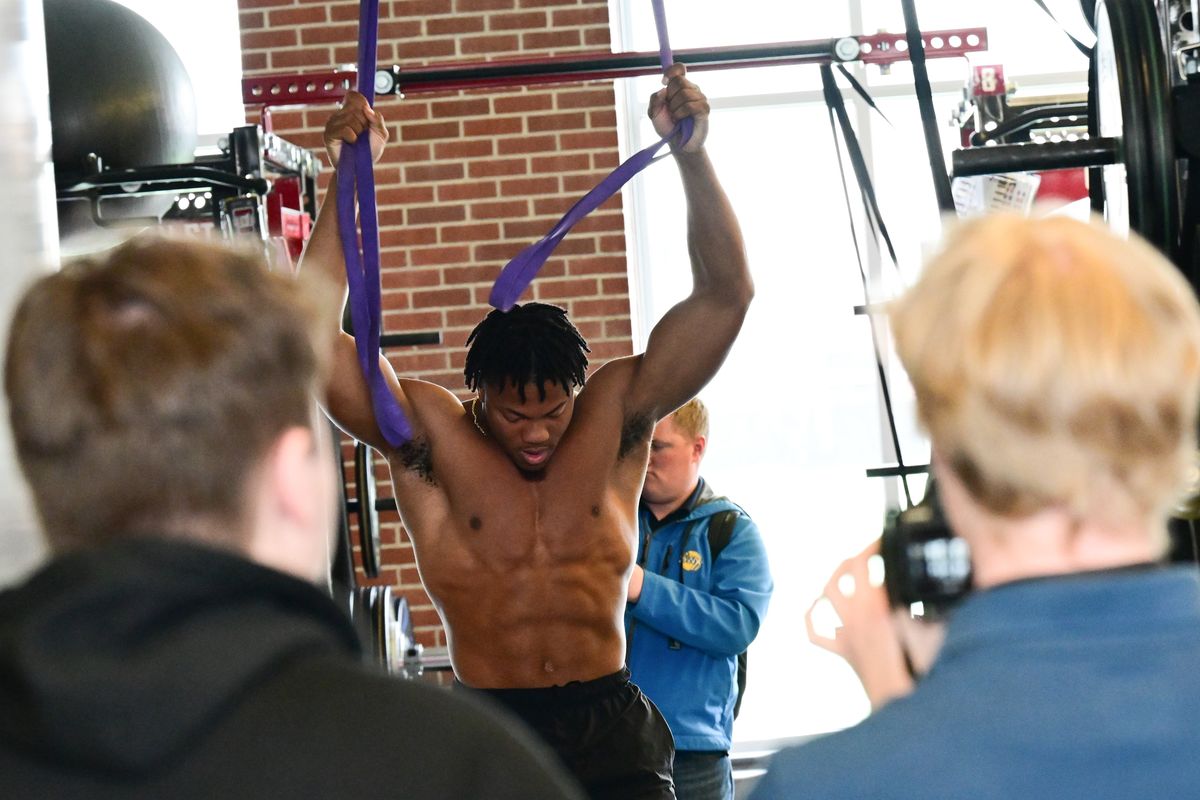
[[[592,800],[674,798],[674,738],[628,669],[565,686],[475,691],[546,740]]]

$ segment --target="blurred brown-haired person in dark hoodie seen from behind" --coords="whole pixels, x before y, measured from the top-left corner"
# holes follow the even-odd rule
[[[0,796],[581,796],[516,721],[366,667],[319,588],[308,294],[151,237],[24,295],[5,389],[55,558],[0,594]]]

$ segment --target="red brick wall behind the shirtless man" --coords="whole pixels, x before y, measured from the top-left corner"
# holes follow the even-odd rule
[[[358,0],[239,0],[250,76],[358,60]],[[607,0],[384,0],[379,64],[536,58],[610,49]],[[400,374],[463,395],[463,344],[499,269],[617,166],[611,82],[379,98],[391,145],[377,166],[385,332],[442,331],[440,347],[396,348]],[[276,108],[274,131],[319,148],[330,107]],[[250,120],[257,109],[247,108]],[[322,188],[332,175],[322,175]],[[631,351],[620,198],[580,223],[527,299],[565,306],[593,367]],[[348,458],[353,458],[346,450]],[[350,461],[353,463],[353,461]],[[390,493],[380,471],[379,491]],[[380,583],[414,610],[418,638],[445,645],[395,513],[380,513]]]

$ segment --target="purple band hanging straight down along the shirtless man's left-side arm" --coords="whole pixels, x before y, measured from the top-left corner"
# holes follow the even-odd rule
[[[379,0],[359,4],[359,94],[374,103],[376,53],[378,50]],[[358,194],[362,224],[362,248],[354,218]],[[379,432],[388,444],[398,447],[413,438],[404,410],[391,393],[379,369],[379,336],[383,311],[379,284],[379,219],[374,197],[374,161],[371,157],[371,133],[365,131],[356,142],[342,143],[337,160],[337,227],[346,257],[346,281],[350,290],[350,320],[359,366],[371,390]]]

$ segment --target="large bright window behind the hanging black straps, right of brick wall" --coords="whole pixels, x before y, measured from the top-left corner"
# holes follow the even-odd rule
[[[1078,4],[1049,5],[1076,36],[1086,36]],[[616,7],[616,49],[658,49],[648,4]],[[1022,86],[1085,90],[1086,62],[1032,1],[919,0],[917,10],[926,30],[988,28],[991,50],[972,62],[1002,64]],[[742,0],[737,13],[727,1],[668,0],[666,11],[674,49],[904,30],[899,0]],[[889,74],[853,70],[890,120],[869,112],[853,91],[845,94],[902,271],[896,275],[874,243],[865,247],[872,299],[882,300],[917,273],[941,225],[911,67],[898,65]],[[947,154],[958,145],[958,132],[947,122],[967,74],[964,60],[930,61]],[[865,476],[866,468],[892,461],[889,437],[870,326],[853,313],[864,301],[863,285],[817,67],[692,77],[714,107],[708,150],[744,228],[757,288],[740,338],[702,393],[712,409],[704,475],[757,521],[775,577],[734,726],[736,740],[748,745],[838,729],[866,714],[851,669],[808,643],[804,614],[833,569],[880,535],[899,488]],[[658,78],[622,86],[629,152],[654,140],[644,107],[658,86]],[[850,180],[862,241],[862,203]],[[668,163],[646,170],[626,192],[634,335],[644,347],[653,323],[690,287],[683,198]],[[926,463],[928,444],[898,366],[889,366],[889,384],[905,459]],[[912,491],[919,498],[923,481],[913,481]]]

